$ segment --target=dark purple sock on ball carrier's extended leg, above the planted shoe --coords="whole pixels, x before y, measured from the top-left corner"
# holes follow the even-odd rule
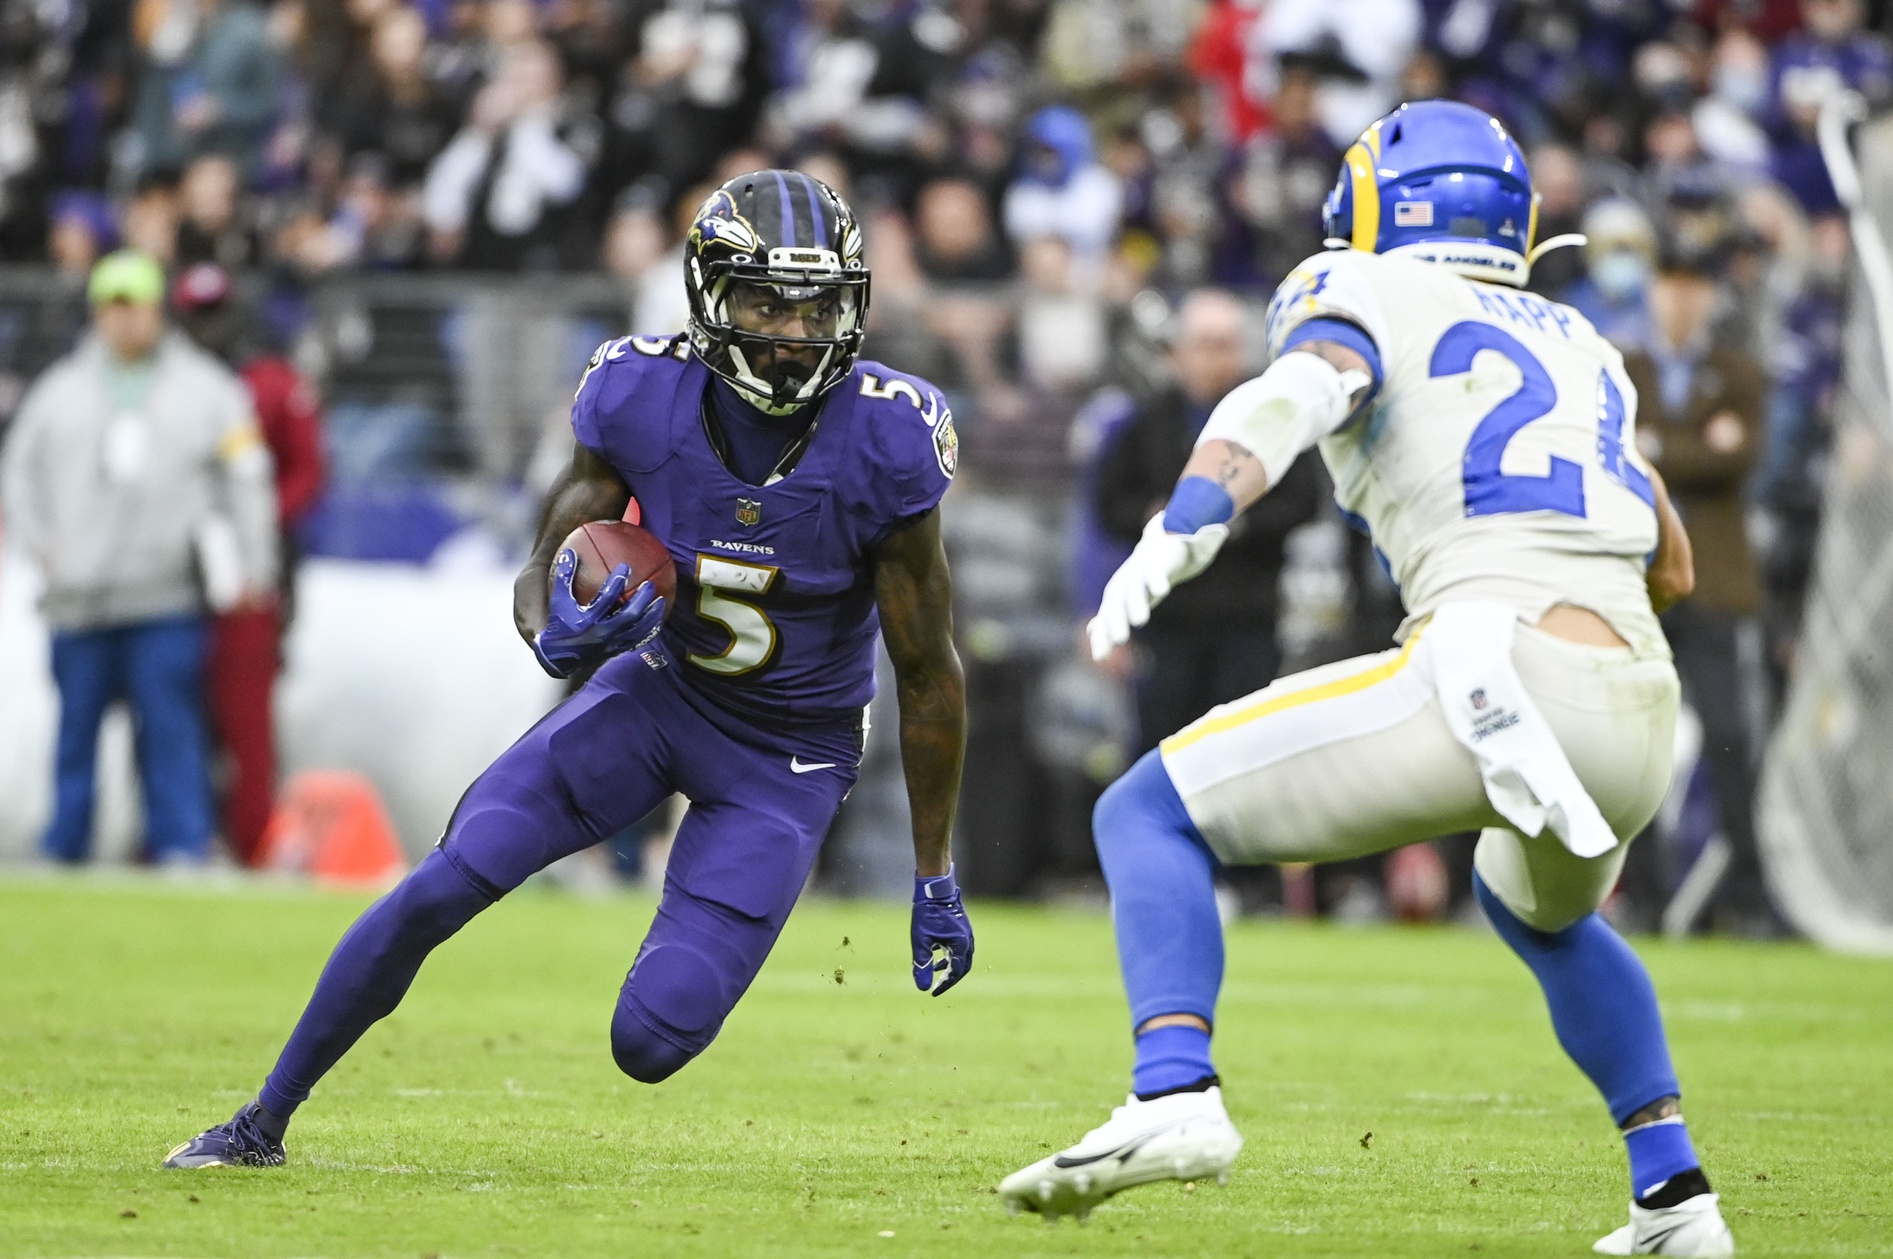
[[[485,882],[485,880],[481,880]],[[284,1125],[309,1091],[415,983],[428,952],[498,899],[443,848],[354,920],[309,998],[257,1100]]]

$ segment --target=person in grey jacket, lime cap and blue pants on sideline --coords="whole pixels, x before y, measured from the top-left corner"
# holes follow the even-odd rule
[[[104,257],[93,331],[34,382],[0,452],[8,534],[45,574],[53,629],[55,861],[91,846],[98,723],[115,699],[136,725],[148,854],[204,860],[206,613],[274,585],[276,502],[250,394],[167,329],[163,295],[151,257]]]

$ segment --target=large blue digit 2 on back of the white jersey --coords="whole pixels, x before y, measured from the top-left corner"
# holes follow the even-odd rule
[[[1465,443],[1465,460],[1460,479],[1465,487],[1465,515],[1499,515],[1507,511],[1562,511],[1564,515],[1584,515],[1584,470],[1567,458],[1550,456],[1550,471],[1543,477],[1514,475],[1501,471],[1505,447],[1518,432],[1550,415],[1558,405],[1558,386],[1550,373],[1516,337],[1503,328],[1463,320],[1446,329],[1433,346],[1433,362],[1427,365],[1429,377],[1456,377],[1473,369],[1473,360],[1480,350],[1503,354],[1520,377],[1518,390],[1478,420],[1471,441]],[[1622,411],[1622,396],[1617,399]],[[1622,415],[1617,422],[1619,452],[1622,449]],[[1601,441],[1601,437],[1600,437]],[[1619,460],[1620,462],[1620,460]]]

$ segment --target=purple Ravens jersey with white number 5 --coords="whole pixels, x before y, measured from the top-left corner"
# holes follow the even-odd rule
[[[623,337],[572,405],[579,445],[617,470],[678,564],[664,655],[740,718],[852,718],[875,695],[869,553],[946,492],[952,413],[926,381],[861,362],[820,403],[795,468],[748,485],[710,445],[708,384],[681,337]]]

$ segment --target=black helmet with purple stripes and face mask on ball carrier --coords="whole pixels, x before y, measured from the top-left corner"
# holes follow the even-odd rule
[[[861,354],[869,273],[848,204],[799,170],[740,174],[685,240],[691,346],[767,415],[839,384]]]

